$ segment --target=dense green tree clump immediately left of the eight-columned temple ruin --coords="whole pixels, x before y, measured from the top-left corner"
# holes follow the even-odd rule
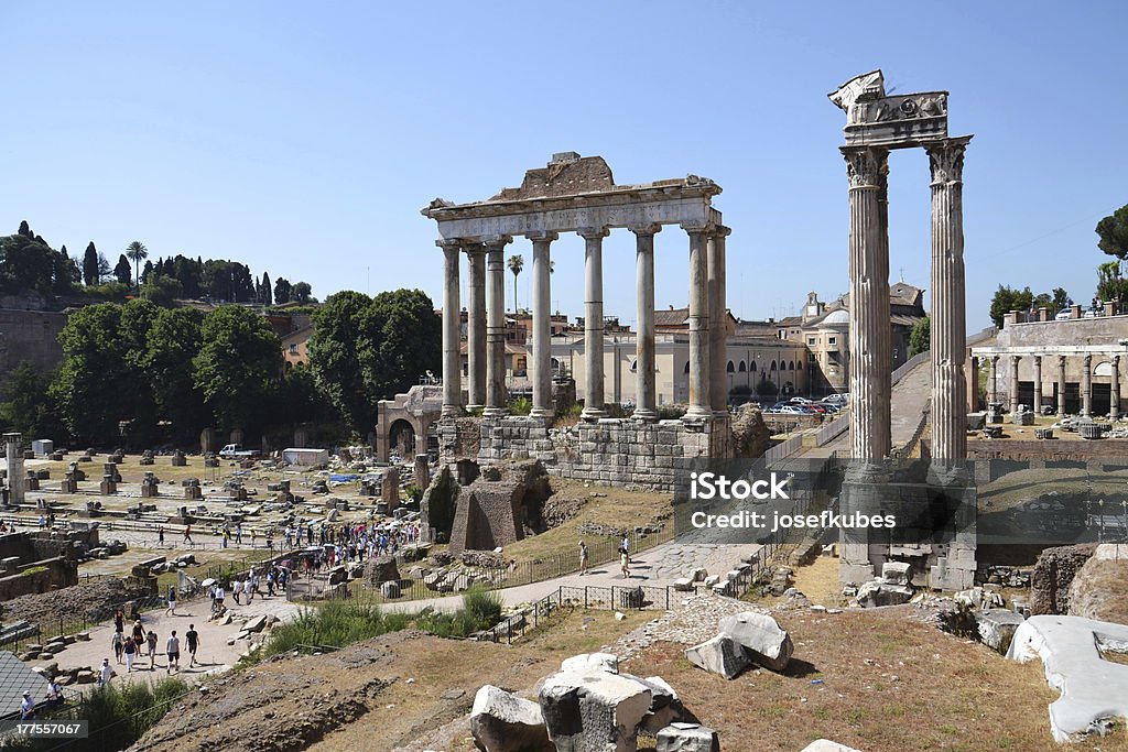
[[[351,428],[367,434],[376,405],[407,391],[429,370],[439,370],[442,321],[418,290],[374,299],[345,291],[329,295],[314,313],[309,365],[317,386]]]

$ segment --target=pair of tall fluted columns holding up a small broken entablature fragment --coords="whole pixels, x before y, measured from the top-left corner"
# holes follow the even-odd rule
[[[970,136],[924,144],[932,169],[932,449],[967,457],[963,285],[963,152]],[[843,147],[849,178],[851,451],[863,460],[892,449],[889,315],[889,150]]]

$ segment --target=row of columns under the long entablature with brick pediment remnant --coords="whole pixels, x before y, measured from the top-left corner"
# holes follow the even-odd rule
[[[700,418],[728,409],[724,379],[726,329],[725,238],[722,225],[681,225],[689,235],[689,408]],[[654,348],[654,235],[660,224],[629,228],[636,245],[635,417],[658,419]],[[584,239],[584,408],[583,418],[607,415],[603,404],[603,259],[607,228],[579,230]],[[552,397],[550,246],[557,232],[526,233],[532,242],[532,331],[529,371],[534,417],[554,414]],[[485,240],[443,239],[442,413],[462,410],[459,302],[460,253],[468,259],[467,407],[487,416],[505,412],[505,265],[509,236]]]

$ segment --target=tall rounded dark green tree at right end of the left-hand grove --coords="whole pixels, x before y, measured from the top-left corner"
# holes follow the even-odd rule
[[[220,428],[261,428],[264,399],[281,373],[282,344],[262,316],[220,306],[201,327],[193,382]]]

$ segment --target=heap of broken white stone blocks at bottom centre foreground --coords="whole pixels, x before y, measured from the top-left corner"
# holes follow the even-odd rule
[[[655,736],[662,752],[720,752],[715,731],[682,716],[663,679],[619,673],[617,656],[593,653],[565,660],[540,683],[537,702],[483,687],[470,732],[484,752],[633,752],[640,732]]]

